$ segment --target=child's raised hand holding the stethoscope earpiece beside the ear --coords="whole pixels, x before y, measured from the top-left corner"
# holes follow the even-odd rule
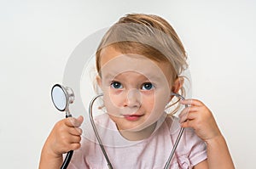
[[[181,104],[189,104],[179,115],[182,127],[194,128],[198,137],[205,142],[221,136],[212,112],[205,104],[196,99],[185,99]]]

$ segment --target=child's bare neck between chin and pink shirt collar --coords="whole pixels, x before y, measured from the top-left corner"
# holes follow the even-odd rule
[[[149,138],[151,134],[154,132],[154,129],[156,127],[156,122],[154,122],[152,125],[144,128],[141,131],[126,131],[126,130],[119,130],[120,134],[130,140],[130,141],[139,141],[146,138]]]

